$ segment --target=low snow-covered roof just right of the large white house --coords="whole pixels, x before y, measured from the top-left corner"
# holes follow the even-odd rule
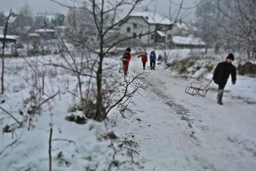
[[[194,37],[189,35],[188,37],[173,36],[172,42],[175,44],[185,44],[185,45],[205,45],[204,41],[199,37]]]

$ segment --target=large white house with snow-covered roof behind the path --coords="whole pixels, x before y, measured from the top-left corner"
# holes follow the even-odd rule
[[[168,43],[171,42],[173,35],[182,35],[181,30],[187,30],[185,23],[173,24],[168,18],[153,12],[131,14],[119,28],[123,35],[134,36],[144,44]],[[162,29],[154,32],[158,28]],[[151,31],[153,33],[142,36]]]

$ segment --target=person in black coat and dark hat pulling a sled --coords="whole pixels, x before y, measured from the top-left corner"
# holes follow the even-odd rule
[[[217,103],[218,104],[223,104],[222,103],[222,96],[224,92],[224,88],[227,84],[229,75],[231,74],[232,78],[232,84],[236,84],[236,67],[232,64],[234,61],[234,55],[230,53],[225,62],[220,62],[218,63],[217,67],[215,68],[213,72],[213,80],[214,83],[219,85],[219,92],[217,96]]]

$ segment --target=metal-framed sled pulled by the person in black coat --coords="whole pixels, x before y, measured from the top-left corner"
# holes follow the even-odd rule
[[[202,84],[200,83],[189,83],[190,86],[187,86],[187,88],[185,89],[185,93],[188,93],[190,95],[201,95],[203,97],[205,97],[207,91],[209,91],[210,88],[207,88],[210,84],[212,83],[212,79],[210,80],[210,82],[203,87]]]

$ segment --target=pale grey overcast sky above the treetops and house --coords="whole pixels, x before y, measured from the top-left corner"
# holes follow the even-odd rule
[[[21,7],[25,2],[27,2],[32,8],[33,12],[49,12],[49,13],[66,13],[67,9],[65,7],[61,7],[58,4],[55,4],[51,2],[50,0],[0,0],[0,11],[9,11],[10,9],[13,9],[14,11],[17,11],[19,7]],[[62,0],[63,1],[63,0]],[[154,11],[154,8],[156,6],[157,2],[157,8],[156,11],[161,14],[169,15],[169,3],[170,0],[145,0],[143,2],[143,5],[150,4],[149,9],[151,11]],[[150,3],[152,2],[152,3]],[[181,0],[172,0],[174,3],[180,3]],[[191,7],[197,4],[199,0],[184,0],[184,7]],[[172,11],[175,11],[175,9],[178,9],[178,5],[172,5]],[[191,9],[188,11],[190,13],[185,20],[190,21],[194,18],[194,12],[195,9]]]

